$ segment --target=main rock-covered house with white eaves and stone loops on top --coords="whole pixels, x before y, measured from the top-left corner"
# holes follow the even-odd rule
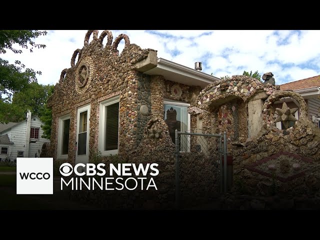
[[[88,42],[91,34],[93,39]],[[163,119],[171,138],[174,129],[190,131],[196,126],[187,107],[202,88],[220,80],[157,58],[155,50],[131,44],[125,34],[113,43],[112,39],[108,30],[99,36],[97,30],[88,30],[84,46],[71,57],[71,67],[61,72],[48,101],[55,159],[88,162],[90,154],[97,152],[128,157],[141,143],[151,118]],[[124,48],[119,54],[121,39]]]

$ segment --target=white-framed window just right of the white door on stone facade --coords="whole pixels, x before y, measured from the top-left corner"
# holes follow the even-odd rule
[[[99,150],[102,155],[118,153],[119,96],[100,103]]]

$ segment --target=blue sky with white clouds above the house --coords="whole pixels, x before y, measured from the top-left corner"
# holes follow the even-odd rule
[[[71,56],[83,47],[87,30],[47,30],[34,41],[46,47],[7,50],[0,57],[39,70],[40,84],[55,84],[61,71],[71,67]],[[99,30],[98,35],[102,32]],[[130,43],[157,50],[161,57],[194,68],[202,62],[202,72],[216,77],[258,71],[272,72],[275,84],[283,84],[320,74],[320,30],[111,30],[113,40],[127,34]],[[89,41],[92,39],[92,34]],[[104,38],[105,44],[107,37]],[[121,52],[122,39],[118,45]],[[17,47],[19,48],[19,47]]]

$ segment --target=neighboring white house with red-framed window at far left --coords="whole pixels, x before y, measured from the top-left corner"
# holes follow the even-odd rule
[[[15,160],[16,157],[39,157],[44,142],[41,120],[28,111],[20,122],[0,124],[0,160]]]

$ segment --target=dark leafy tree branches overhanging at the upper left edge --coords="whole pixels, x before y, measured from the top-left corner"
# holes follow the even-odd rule
[[[4,54],[7,49],[14,53],[21,53],[21,49],[15,48],[15,43],[21,48],[29,49],[30,52],[33,48],[44,48],[44,44],[36,44],[33,39],[46,33],[39,30],[0,30],[0,53]],[[12,116],[16,110],[14,106],[8,105],[11,102],[11,96],[24,89],[30,82],[36,82],[36,74],[41,74],[41,71],[24,68],[25,65],[20,61],[16,60],[14,64],[10,64],[7,60],[0,58],[0,122],[7,121],[6,114]],[[8,112],[9,109],[13,112]]]

